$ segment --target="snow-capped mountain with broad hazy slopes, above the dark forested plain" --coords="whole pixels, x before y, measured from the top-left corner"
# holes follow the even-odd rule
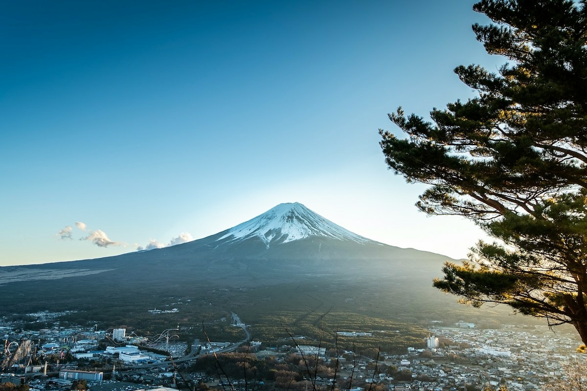
[[[56,278],[122,278],[149,283],[153,276],[190,281],[223,276],[228,284],[294,281],[303,275],[439,276],[439,254],[402,249],[336,225],[301,203],[282,203],[222,232],[176,246],[100,259],[0,268],[0,285]],[[131,273],[133,278],[129,279]],[[433,273],[433,274],[430,274]],[[227,279],[227,277],[230,277]],[[130,282],[129,282],[130,280]],[[220,281],[220,280],[219,280]]]

